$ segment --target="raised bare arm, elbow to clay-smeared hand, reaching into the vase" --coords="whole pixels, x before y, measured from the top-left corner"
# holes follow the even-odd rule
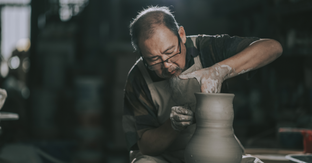
[[[196,78],[202,92],[220,93],[224,80],[261,68],[278,58],[282,52],[283,48],[278,41],[261,39],[251,43],[240,53],[209,68],[180,75],[179,78]]]

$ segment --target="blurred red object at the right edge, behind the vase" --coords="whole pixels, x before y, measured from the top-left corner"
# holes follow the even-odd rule
[[[279,128],[278,132],[300,132],[303,136],[304,153],[312,153],[312,130],[305,128]]]

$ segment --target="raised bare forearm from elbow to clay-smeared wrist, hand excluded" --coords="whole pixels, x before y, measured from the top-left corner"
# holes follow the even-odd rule
[[[240,75],[242,73],[261,68],[278,58],[283,52],[283,48],[278,41],[262,39],[253,42],[240,53],[227,58],[219,65],[228,65],[232,68],[225,79]]]

